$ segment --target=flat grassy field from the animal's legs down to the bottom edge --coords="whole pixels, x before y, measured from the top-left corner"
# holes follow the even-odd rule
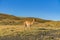
[[[60,40],[59,27],[0,25],[0,40]]]

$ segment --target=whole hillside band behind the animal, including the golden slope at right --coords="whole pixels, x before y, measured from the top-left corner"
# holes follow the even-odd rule
[[[60,21],[52,21],[52,20],[45,20],[41,18],[35,18],[35,17],[17,17],[14,15],[9,14],[2,14],[0,13],[0,25],[23,25],[23,22],[28,20],[32,21],[32,19],[35,20],[36,26],[50,26],[50,27],[59,27]]]

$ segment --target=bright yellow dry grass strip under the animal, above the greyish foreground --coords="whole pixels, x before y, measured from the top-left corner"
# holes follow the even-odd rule
[[[33,25],[32,27],[24,27],[24,25],[0,25],[0,36],[14,34],[16,32],[34,32],[39,31],[37,29],[54,29],[58,30],[60,27],[51,27],[51,26],[43,26],[45,24]]]

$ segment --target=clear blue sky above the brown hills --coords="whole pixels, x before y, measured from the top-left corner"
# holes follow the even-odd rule
[[[60,0],[0,0],[0,13],[60,20]]]

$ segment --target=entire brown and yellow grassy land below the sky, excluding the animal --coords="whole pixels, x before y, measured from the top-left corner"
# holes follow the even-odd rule
[[[23,22],[35,20],[31,27]],[[0,13],[0,40],[60,40],[60,21]]]

